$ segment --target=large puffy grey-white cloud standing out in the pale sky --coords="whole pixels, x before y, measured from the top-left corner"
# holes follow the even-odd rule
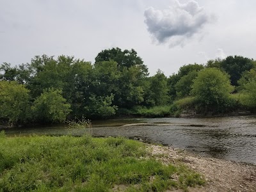
[[[159,44],[169,42],[170,46],[184,45],[186,40],[211,22],[212,17],[194,0],[184,4],[178,0],[172,2],[172,6],[166,10],[153,7],[145,10],[145,24]]]

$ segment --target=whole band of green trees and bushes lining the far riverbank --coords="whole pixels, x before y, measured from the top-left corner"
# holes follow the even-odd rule
[[[134,49],[99,52],[95,63],[73,56],[35,56],[0,65],[0,120],[20,125],[120,115],[202,115],[256,109],[256,61],[243,56],[189,64],[149,77]]]

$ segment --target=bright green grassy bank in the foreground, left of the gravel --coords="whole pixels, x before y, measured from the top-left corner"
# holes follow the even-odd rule
[[[175,178],[175,179],[174,179]],[[164,191],[204,184],[183,165],[164,165],[145,144],[89,135],[0,136],[0,191]]]

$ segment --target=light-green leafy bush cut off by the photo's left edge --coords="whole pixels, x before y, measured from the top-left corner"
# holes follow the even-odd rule
[[[24,124],[29,118],[29,90],[15,81],[0,81],[0,118]]]

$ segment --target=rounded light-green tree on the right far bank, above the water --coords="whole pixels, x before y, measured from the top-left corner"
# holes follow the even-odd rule
[[[197,100],[199,111],[215,113],[225,111],[233,90],[226,74],[217,68],[205,68],[198,72],[191,93]]]

